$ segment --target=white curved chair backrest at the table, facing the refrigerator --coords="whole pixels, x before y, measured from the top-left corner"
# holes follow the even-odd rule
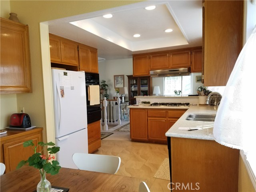
[[[121,164],[121,158],[110,155],[74,153],[74,164],[81,170],[115,174]]]

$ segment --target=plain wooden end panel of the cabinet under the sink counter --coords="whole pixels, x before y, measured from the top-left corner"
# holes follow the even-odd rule
[[[238,191],[239,150],[213,140],[170,138],[172,191]],[[189,185],[186,190],[182,188]],[[179,187],[178,187],[179,186]]]

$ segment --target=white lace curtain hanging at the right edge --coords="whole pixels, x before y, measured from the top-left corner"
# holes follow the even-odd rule
[[[256,27],[240,52],[218,107],[213,135],[216,142],[244,152],[256,146],[254,102]]]

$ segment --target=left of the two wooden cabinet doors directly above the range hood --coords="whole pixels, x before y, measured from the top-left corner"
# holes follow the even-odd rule
[[[150,54],[150,70],[168,69],[169,53]]]

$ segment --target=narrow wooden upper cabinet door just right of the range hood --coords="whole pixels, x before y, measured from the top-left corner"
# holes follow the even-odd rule
[[[202,49],[192,50],[191,72],[202,72]]]

